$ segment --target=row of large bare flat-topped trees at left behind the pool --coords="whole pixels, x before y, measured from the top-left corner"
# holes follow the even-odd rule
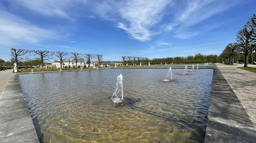
[[[103,60],[102,54],[92,54],[92,53],[76,53],[76,52],[62,52],[62,51],[49,51],[49,50],[28,50],[28,49],[16,49],[11,48],[12,61],[17,64],[17,68],[20,62],[28,60],[31,54],[36,55],[40,59],[41,68],[44,70],[44,64],[49,62],[50,59],[54,59],[56,62],[60,63],[60,69],[62,69],[63,62],[69,58],[72,58],[78,68],[77,63],[81,59],[86,59],[91,68],[91,62],[98,60],[99,64]],[[83,60],[84,61],[84,60]],[[98,64],[98,66],[99,66]]]

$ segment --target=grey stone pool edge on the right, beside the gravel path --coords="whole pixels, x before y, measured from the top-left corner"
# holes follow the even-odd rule
[[[214,68],[205,142],[253,142],[256,128],[218,68]]]

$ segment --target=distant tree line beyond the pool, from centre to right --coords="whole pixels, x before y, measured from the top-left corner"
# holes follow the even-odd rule
[[[141,64],[147,65],[148,62],[150,64],[189,64],[189,63],[216,63],[218,62],[219,57],[217,54],[210,54],[210,55],[203,55],[201,53],[193,55],[189,55],[186,57],[183,56],[176,56],[175,58],[161,58],[161,59],[152,59],[149,60],[148,58],[141,58],[141,57],[134,57],[134,56],[122,56],[122,63],[123,64]]]

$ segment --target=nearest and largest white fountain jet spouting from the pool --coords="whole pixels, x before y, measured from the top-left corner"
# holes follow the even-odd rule
[[[123,76],[122,74],[117,76],[116,91],[111,97],[114,103],[124,103],[123,100]]]

